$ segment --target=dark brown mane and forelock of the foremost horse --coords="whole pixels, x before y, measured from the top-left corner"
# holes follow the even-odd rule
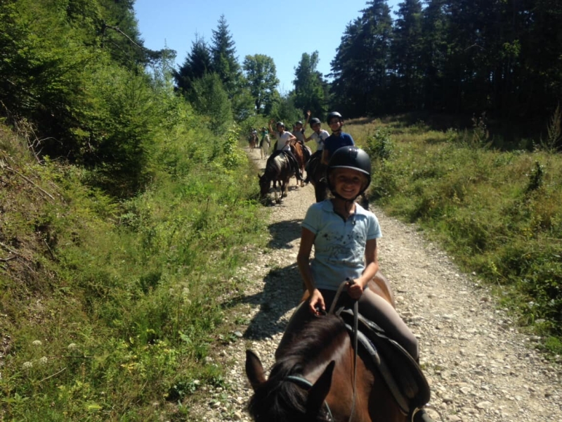
[[[273,365],[268,380],[251,398],[248,409],[256,421],[296,422],[295,414],[306,413],[306,392],[287,381],[287,376],[302,376],[306,366],[321,364],[319,357],[342,333],[346,333],[346,328],[337,316],[313,319],[303,327]]]

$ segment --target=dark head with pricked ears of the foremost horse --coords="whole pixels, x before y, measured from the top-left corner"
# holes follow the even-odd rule
[[[246,351],[246,374],[254,396],[249,412],[256,422],[331,422],[332,414],[325,399],[332,387],[335,362],[329,362],[313,385],[292,376],[280,366],[273,367],[269,379],[263,373],[259,357]]]

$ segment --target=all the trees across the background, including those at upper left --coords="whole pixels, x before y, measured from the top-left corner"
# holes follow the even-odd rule
[[[133,4],[0,4],[1,115],[37,124],[42,153],[129,184],[131,174],[138,183],[145,177],[156,122],[147,112],[153,104],[138,99],[150,97],[159,72],[173,75],[168,82],[216,133],[249,117],[291,121],[332,109],[346,117],[421,110],[546,121],[562,94],[556,0],[405,0],[394,20],[386,0],[367,1],[341,36],[331,74],[318,72],[318,51],[303,52],[283,96],[276,58],[239,60],[224,15],[211,40],[195,37],[174,69],[175,51],[143,47]]]

